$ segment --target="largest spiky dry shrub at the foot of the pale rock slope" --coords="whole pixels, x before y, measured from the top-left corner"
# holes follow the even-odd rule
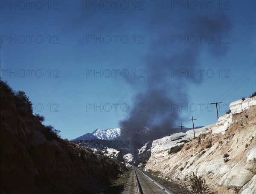
[[[193,174],[189,177],[190,178],[190,189],[192,190],[192,193],[196,194],[207,194],[208,193],[208,185],[205,183],[205,179],[202,177],[198,177]]]

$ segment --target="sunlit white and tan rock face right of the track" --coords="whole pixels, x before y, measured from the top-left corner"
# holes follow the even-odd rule
[[[213,193],[234,193],[237,186],[242,194],[256,193],[256,97],[238,100],[230,104],[231,113],[218,119],[216,124],[206,126],[201,134],[196,131],[176,134],[172,140],[164,137],[152,143],[151,157],[145,168],[160,171],[160,177],[189,185],[194,172],[205,178]],[[208,133],[204,133],[208,131]],[[198,134],[198,135],[197,135]],[[193,137],[193,136],[192,136]],[[189,140],[181,142],[182,138]],[[174,154],[171,147],[184,144]],[[224,157],[224,154],[225,155]]]

